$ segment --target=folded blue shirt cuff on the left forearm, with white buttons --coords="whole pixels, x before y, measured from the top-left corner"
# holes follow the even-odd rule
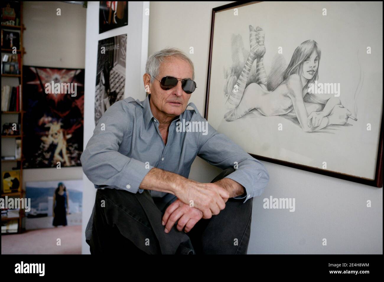
[[[152,168],[154,168],[152,165],[131,158],[123,170],[126,172],[123,173],[124,176],[120,181],[120,187],[134,194],[137,192],[142,193],[144,189],[139,188],[139,186]]]

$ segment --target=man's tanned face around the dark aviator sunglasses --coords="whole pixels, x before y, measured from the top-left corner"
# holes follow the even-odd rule
[[[161,81],[164,76],[173,76],[178,79],[192,79],[192,68],[187,61],[169,57],[160,64],[159,75]],[[156,79],[151,84],[151,104],[155,107],[152,114],[164,114],[166,116],[178,116],[187,108],[191,94],[187,94],[181,87],[181,81],[169,90],[163,90]]]

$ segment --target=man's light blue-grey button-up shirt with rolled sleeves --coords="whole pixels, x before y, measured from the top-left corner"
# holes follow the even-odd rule
[[[144,190],[139,186],[151,168],[188,178],[190,167],[199,156],[222,169],[236,168],[225,176],[245,188],[245,193],[236,199],[244,199],[245,203],[262,194],[269,181],[264,165],[218,133],[193,103],[188,104],[193,110],[185,110],[171,122],[164,145],[159,122],[149,106],[150,96],[144,101],[128,97],[115,102],[99,119],[80,158],[83,172],[95,188],[142,193]],[[176,199],[170,193],[150,192],[152,197],[162,197],[164,203]],[[86,239],[91,236],[93,215],[94,210],[86,228]]]

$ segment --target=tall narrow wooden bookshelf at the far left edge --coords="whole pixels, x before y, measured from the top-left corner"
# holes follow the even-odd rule
[[[13,52],[12,49],[8,49],[8,48],[2,48],[2,59],[3,59],[3,56],[4,54],[8,54],[8,56],[10,55],[17,55],[18,56],[18,65],[19,65],[19,73],[18,74],[5,74],[3,73],[4,71],[4,68],[2,67],[2,86],[3,85],[16,85],[16,83],[18,82],[18,85],[16,87],[20,87],[19,89],[19,110],[10,110],[10,111],[2,111],[2,127],[4,125],[4,121],[7,121],[7,122],[14,122],[16,123],[17,125],[20,124],[20,128],[19,128],[19,134],[15,134],[15,135],[3,135],[3,130],[2,130],[2,147],[3,147],[3,141],[6,141],[5,145],[7,146],[4,146],[5,148],[2,149],[2,195],[1,197],[5,199],[5,196],[7,196],[8,198],[12,197],[12,198],[25,198],[25,189],[23,187],[23,161],[24,161],[24,158],[23,158],[23,114],[25,113],[25,111],[23,111],[23,101],[22,101],[22,90],[23,90],[23,55],[26,53],[24,48],[23,48],[23,31],[26,30],[25,26],[23,25],[23,2],[18,2],[20,3],[20,25],[3,25],[2,24],[2,35],[3,35],[3,31],[6,31],[6,30],[11,30],[11,31],[17,31],[17,32],[20,32],[20,43],[19,43],[19,49],[16,50],[16,53]],[[2,42],[3,42],[3,38],[2,38]],[[3,47],[3,46],[2,46]],[[2,63],[3,63],[3,60],[2,60]],[[3,108],[2,108],[3,109]],[[17,121],[15,121],[15,119],[17,119]],[[15,139],[15,140],[20,140],[20,157],[19,158],[15,158],[15,159],[12,159],[12,160],[4,160],[3,159],[3,153],[4,152],[7,152],[7,155],[8,154],[13,154],[15,153],[15,157],[16,157],[16,152],[15,150],[11,150],[10,147],[12,147],[10,144],[11,144],[11,140],[12,139]],[[16,146],[16,141],[15,141],[15,146]],[[9,153],[8,153],[9,152]],[[4,193],[3,191],[3,172],[9,172],[9,171],[19,171],[20,172],[20,179],[19,179],[19,191],[17,192],[13,192],[13,193]],[[4,209],[2,209],[3,211]],[[7,218],[3,218],[2,216],[2,226],[3,226],[3,223],[7,223],[7,222],[10,222],[10,221],[13,221],[13,220],[16,220],[17,221],[17,232],[12,232],[12,233],[3,233],[3,230],[2,230],[2,235],[6,235],[6,234],[18,234],[18,233],[22,233],[24,231],[24,229],[22,228],[22,219],[25,217],[25,211],[24,209],[20,209],[20,211],[18,212],[18,216],[14,216],[14,214],[12,214],[12,216],[8,216]]]

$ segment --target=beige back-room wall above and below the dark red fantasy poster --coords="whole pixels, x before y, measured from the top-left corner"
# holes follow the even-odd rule
[[[56,9],[61,9],[61,16]],[[23,2],[23,64],[54,68],[85,67],[86,9],[63,2]],[[23,139],[23,146],[28,140]],[[30,168],[23,170],[28,181],[82,179],[81,167]],[[27,226],[28,227],[28,226]]]

